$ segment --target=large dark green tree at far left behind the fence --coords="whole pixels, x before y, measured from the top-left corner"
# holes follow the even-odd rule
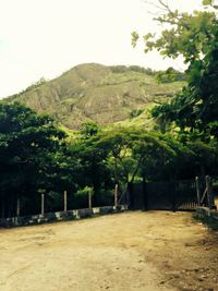
[[[20,104],[0,104],[0,201],[11,215],[17,197],[34,209],[38,190],[52,185],[65,134],[48,116]]]

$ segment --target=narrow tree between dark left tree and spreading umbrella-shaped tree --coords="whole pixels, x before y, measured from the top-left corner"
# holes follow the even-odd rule
[[[94,123],[85,123],[78,138],[69,146],[69,155],[75,161],[74,177],[77,191],[89,186],[94,190],[94,204],[99,204],[101,191],[111,189],[111,174],[106,163],[106,150],[94,146],[100,130]]]

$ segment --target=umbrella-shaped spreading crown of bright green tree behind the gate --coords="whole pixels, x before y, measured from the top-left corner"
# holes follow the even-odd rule
[[[154,180],[160,178],[161,172],[167,175],[167,168],[169,174],[177,153],[162,136],[143,129],[119,128],[102,132],[90,143],[97,153],[104,153],[104,161],[112,172],[113,183],[126,186],[135,178]]]

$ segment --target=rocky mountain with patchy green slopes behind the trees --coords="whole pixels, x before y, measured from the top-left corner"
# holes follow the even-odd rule
[[[41,80],[7,100],[49,113],[68,129],[76,130],[86,121],[107,125],[137,118],[155,99],[169,98],[183,85],[158,84],[152,70],[136,65],[87,63],[55,80]]]

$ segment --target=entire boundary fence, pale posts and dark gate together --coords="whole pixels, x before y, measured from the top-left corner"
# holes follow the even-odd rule
[[[215,208],[213,182],[217,183],[218,190],[218,179],[211,180],[209,177],[185,181],[129,183],[126,191],[119,193],[116,185],[112,192],[99,195],[98,201],[94,199],[90,189],[87,195],[72,195],[64,191],[61,195],[51,197],[41,193],[27,202],[19,197],[4,201],[4,204],[0,201],[0,218],[119,205],[129,205],[130,209],[147,210],[195,210],[198,206],[213,209]],[[55,204],[51,202],[52,198],[56,201]]]

